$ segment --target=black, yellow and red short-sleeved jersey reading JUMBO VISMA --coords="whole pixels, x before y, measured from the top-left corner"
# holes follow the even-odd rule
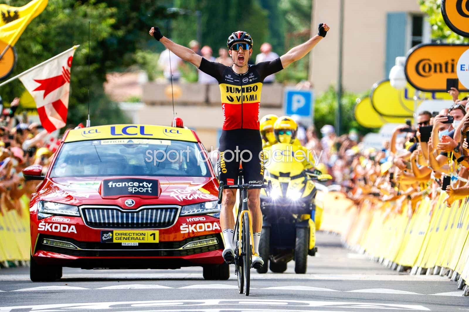
[[[248,65],[248,72],[234,73],[230,66],[202,58],[199,69],[218,80],[221,107],[225,120],[223,130],[259,130],[259,105],[264,78],[283,69],[280,58]]]

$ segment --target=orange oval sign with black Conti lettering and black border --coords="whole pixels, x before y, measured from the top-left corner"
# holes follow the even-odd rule
[[[425,92],[446,92],[446,79],[457,79],[457,64],[469,49],[466,44],[419,44],[409,51],[406,78],[412,87]],[[468,92],[461,82],[459,91]]]

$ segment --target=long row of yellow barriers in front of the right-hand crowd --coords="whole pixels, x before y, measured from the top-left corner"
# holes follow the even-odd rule
[[[408,268],[449,268],[469,282],[469,200],[446,204],[446,193],[424,197],[415,211],[409,201],[359,205],[344,194],[324,195],[322,230],[340,233],[372,258]],[[432,273],[433,271],[429,271]]]

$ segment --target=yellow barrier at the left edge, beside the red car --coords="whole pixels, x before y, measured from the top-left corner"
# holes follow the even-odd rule
[[[29,199],[18,204],[18,210],[0,211],[0,262],[30,260]]]

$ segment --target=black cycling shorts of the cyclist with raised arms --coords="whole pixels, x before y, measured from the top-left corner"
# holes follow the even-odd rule
[[[264,181],[262,139],[258,130],[222,130],[219,151],[218,174],[219,180],[224,184],[238,184],[240,162],[244,183],[257,184]]]

